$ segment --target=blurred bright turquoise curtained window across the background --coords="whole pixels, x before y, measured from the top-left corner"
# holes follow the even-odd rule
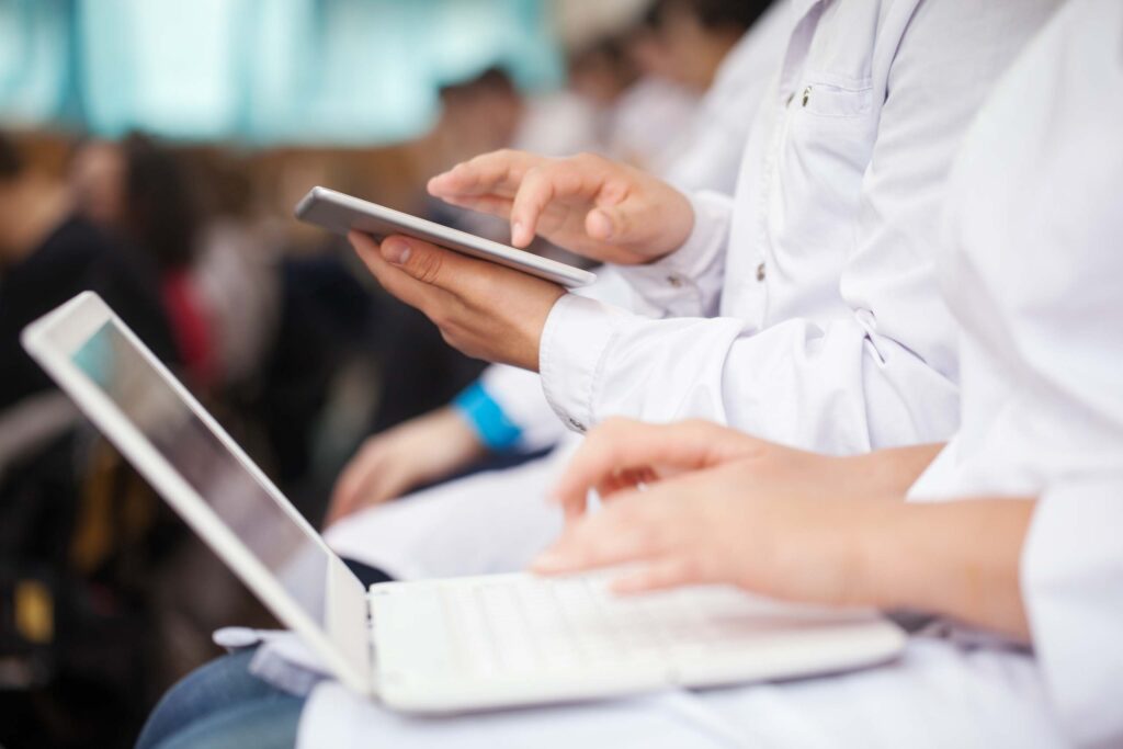
[[[541,0],[0,0],[0,120],[249,144],[421,134],[440,84],[556,84]]]

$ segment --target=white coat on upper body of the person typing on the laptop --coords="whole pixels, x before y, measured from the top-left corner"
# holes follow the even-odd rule
[[[913,494],[1035,496],[1022,590],[1069,737],[1123,746],[1123,3],[1071,0],[951,179],[964,419]]]

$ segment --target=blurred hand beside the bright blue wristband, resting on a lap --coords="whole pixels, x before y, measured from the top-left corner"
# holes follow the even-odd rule
[[[484,453],[475,430],[451,407],[387,429],[367,439],[344,468],[323,524],[445,478]]]

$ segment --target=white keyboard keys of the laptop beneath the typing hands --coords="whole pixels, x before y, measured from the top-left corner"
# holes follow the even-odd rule
[[[481,676],[661,661],[672,649],[712,649],[745,634],[721,616],[702,618],[688,596],[619,597],[597,578],[449,585],[441,597],[463,665]]]

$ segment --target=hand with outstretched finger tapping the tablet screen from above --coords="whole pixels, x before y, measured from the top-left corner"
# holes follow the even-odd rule
[[[511,244],[535,234],[594,259],[650,263],[678,249],[694,228],[690,200],[646,172],[602,156],[546,158],[496,150],[429,181],[441,200],[511,220]]]

